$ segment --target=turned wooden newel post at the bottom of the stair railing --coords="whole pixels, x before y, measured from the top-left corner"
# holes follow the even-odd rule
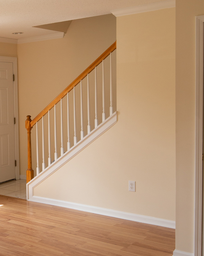
[[[26,171],[27,183],[34,178],[34,171],[32,169],[32,158],[31,158],[31,116],[27,116],[26,129],[28,133],[28,170]]]

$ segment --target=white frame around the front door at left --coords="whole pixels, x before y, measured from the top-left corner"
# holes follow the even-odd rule
[[[19,127],[18,127],[18,72],[17,72],[17,58],[16,57],[4,57],[0,56],[0,62],[12,62],[13,72],[15,75],[14,81],[14,117],[16,118],[16,124],[14,125],[15,135],[15,159],[16,159],[16,180],[20,179],[19,169]]]

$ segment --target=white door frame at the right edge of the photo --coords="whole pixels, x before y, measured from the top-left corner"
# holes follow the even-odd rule
[[[194,256],[202,256],[203,244],[203,76],[204,15],[195,17],[195,211]]]

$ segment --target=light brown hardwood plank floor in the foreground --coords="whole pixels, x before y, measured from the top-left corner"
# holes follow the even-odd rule
[[[0,256],[172,256],[175,230],[0,196]]]

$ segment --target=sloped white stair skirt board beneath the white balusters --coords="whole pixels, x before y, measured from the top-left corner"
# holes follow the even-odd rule
[[[85,147],[87,147],[91,142],[96,140],[101,134],[111,128],[114,124],[117,123],[117,111],[114,112],[111,116],[105,119],[100,125],[98,125],[95,129],[93,129],[90,133],[88,133],[82,140],[80,140],[77,144],[70,148],[69,151],[65,152],[62,156],[57,158],[56,161],[51,163],[44,171],[40,172],[37,176],[35,176],[30,182],[27,183],[27,200],[31,201],[33,197],[33,189],[42,181],[46,180],[52,173],[62,167],[65,163],[67,163],[71,158],[77,155],[80,151],[82,151]]]

